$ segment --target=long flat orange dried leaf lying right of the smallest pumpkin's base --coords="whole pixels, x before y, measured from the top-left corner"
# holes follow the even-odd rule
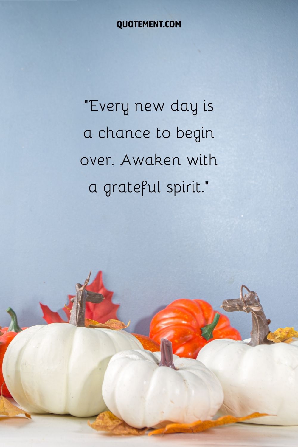
[[[170,434],[170,433],[199,433],[200,431],[208,430],[212,427],[217,427],[219,425],[234,424],[235,422],[243,422],[248,419],[253,419],[254,417],[269,416],[266,413],[252,413],[249,416],[235,417],[235,416],[222,416],[216,419],[216,421],[197,421],[192,424],[168,424],[163,428],[157,430],[152,430],[148,433],[151,434]]]

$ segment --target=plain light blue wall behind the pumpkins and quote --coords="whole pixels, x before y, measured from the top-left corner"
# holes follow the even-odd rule
[[[176,298],[219,308],[242,283],[272,329],[298,326],[296,1],[2,1],[1,325],[61,309],[92,269],[148,333]],[[181,20],[123,29],[117,20]],[[210,114],[169,111],[203,99]],[[85,99],[164,101],[162,113],[91,113]],[[204,126],[214,139],[100,140],[85,129]],[[218,166],[120,167],[123,156],[212,153]],[[80,165],[112,156],[114,166]],[[90,194],[97,183],[209,181],[204,194]],[[250,316],[229,314],[247,337]]]

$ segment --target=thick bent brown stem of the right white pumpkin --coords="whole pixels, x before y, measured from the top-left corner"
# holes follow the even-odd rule
[[[243,295],[243,288],[248,291]],[[243,311],[252,314],[252,332],[250,346],[271,345],[273,342],[267,339],[270,332],[270,320],[267,320],[260,299],[256,292],[250,291],[248,287],[242,285],[239,299],[225,299],[222,308],[227,312]]]

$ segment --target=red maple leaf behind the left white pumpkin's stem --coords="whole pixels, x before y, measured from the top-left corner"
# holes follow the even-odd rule
[[[105,299],[98,304],[95,303],[86,303],[86,314],[85,317],[88,320],[95,320],[98,323],[105,323],[106,321],[113,319],[118,320],[117,318],[117,309],[119,304],[112,303],[113,293],[110,290],[107,290],[102,282],[102,272],[99,271],[94,279],[94,281],[86,287],[87,290],[91,292],[97,292],[104,295]],[[72,308],[71,298],[75,295],[68,295],[68,304],[67,307],[69,309]],[[49,323],[67,323],[70,318],[70,311],[67,308],[63,308],[63,311],[66,313],[67,321],[64,321],[63,318],[59,315],[58,312],[53,312],[50,308],[44,304],[40,304],[42,308],[43,316],[42,318]]]

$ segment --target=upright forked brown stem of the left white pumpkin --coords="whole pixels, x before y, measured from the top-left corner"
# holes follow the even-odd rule
[[[88,274],[88,278],[85,279],[83,286],[79,283],[76,284],[76,297],[73,301],[69,322],[71,325],[77,327],[85,326],[86,301],[90,301],[91,303],[101,303],[104,299],[101,293],[86,290],[90,276],[91,272]]]

